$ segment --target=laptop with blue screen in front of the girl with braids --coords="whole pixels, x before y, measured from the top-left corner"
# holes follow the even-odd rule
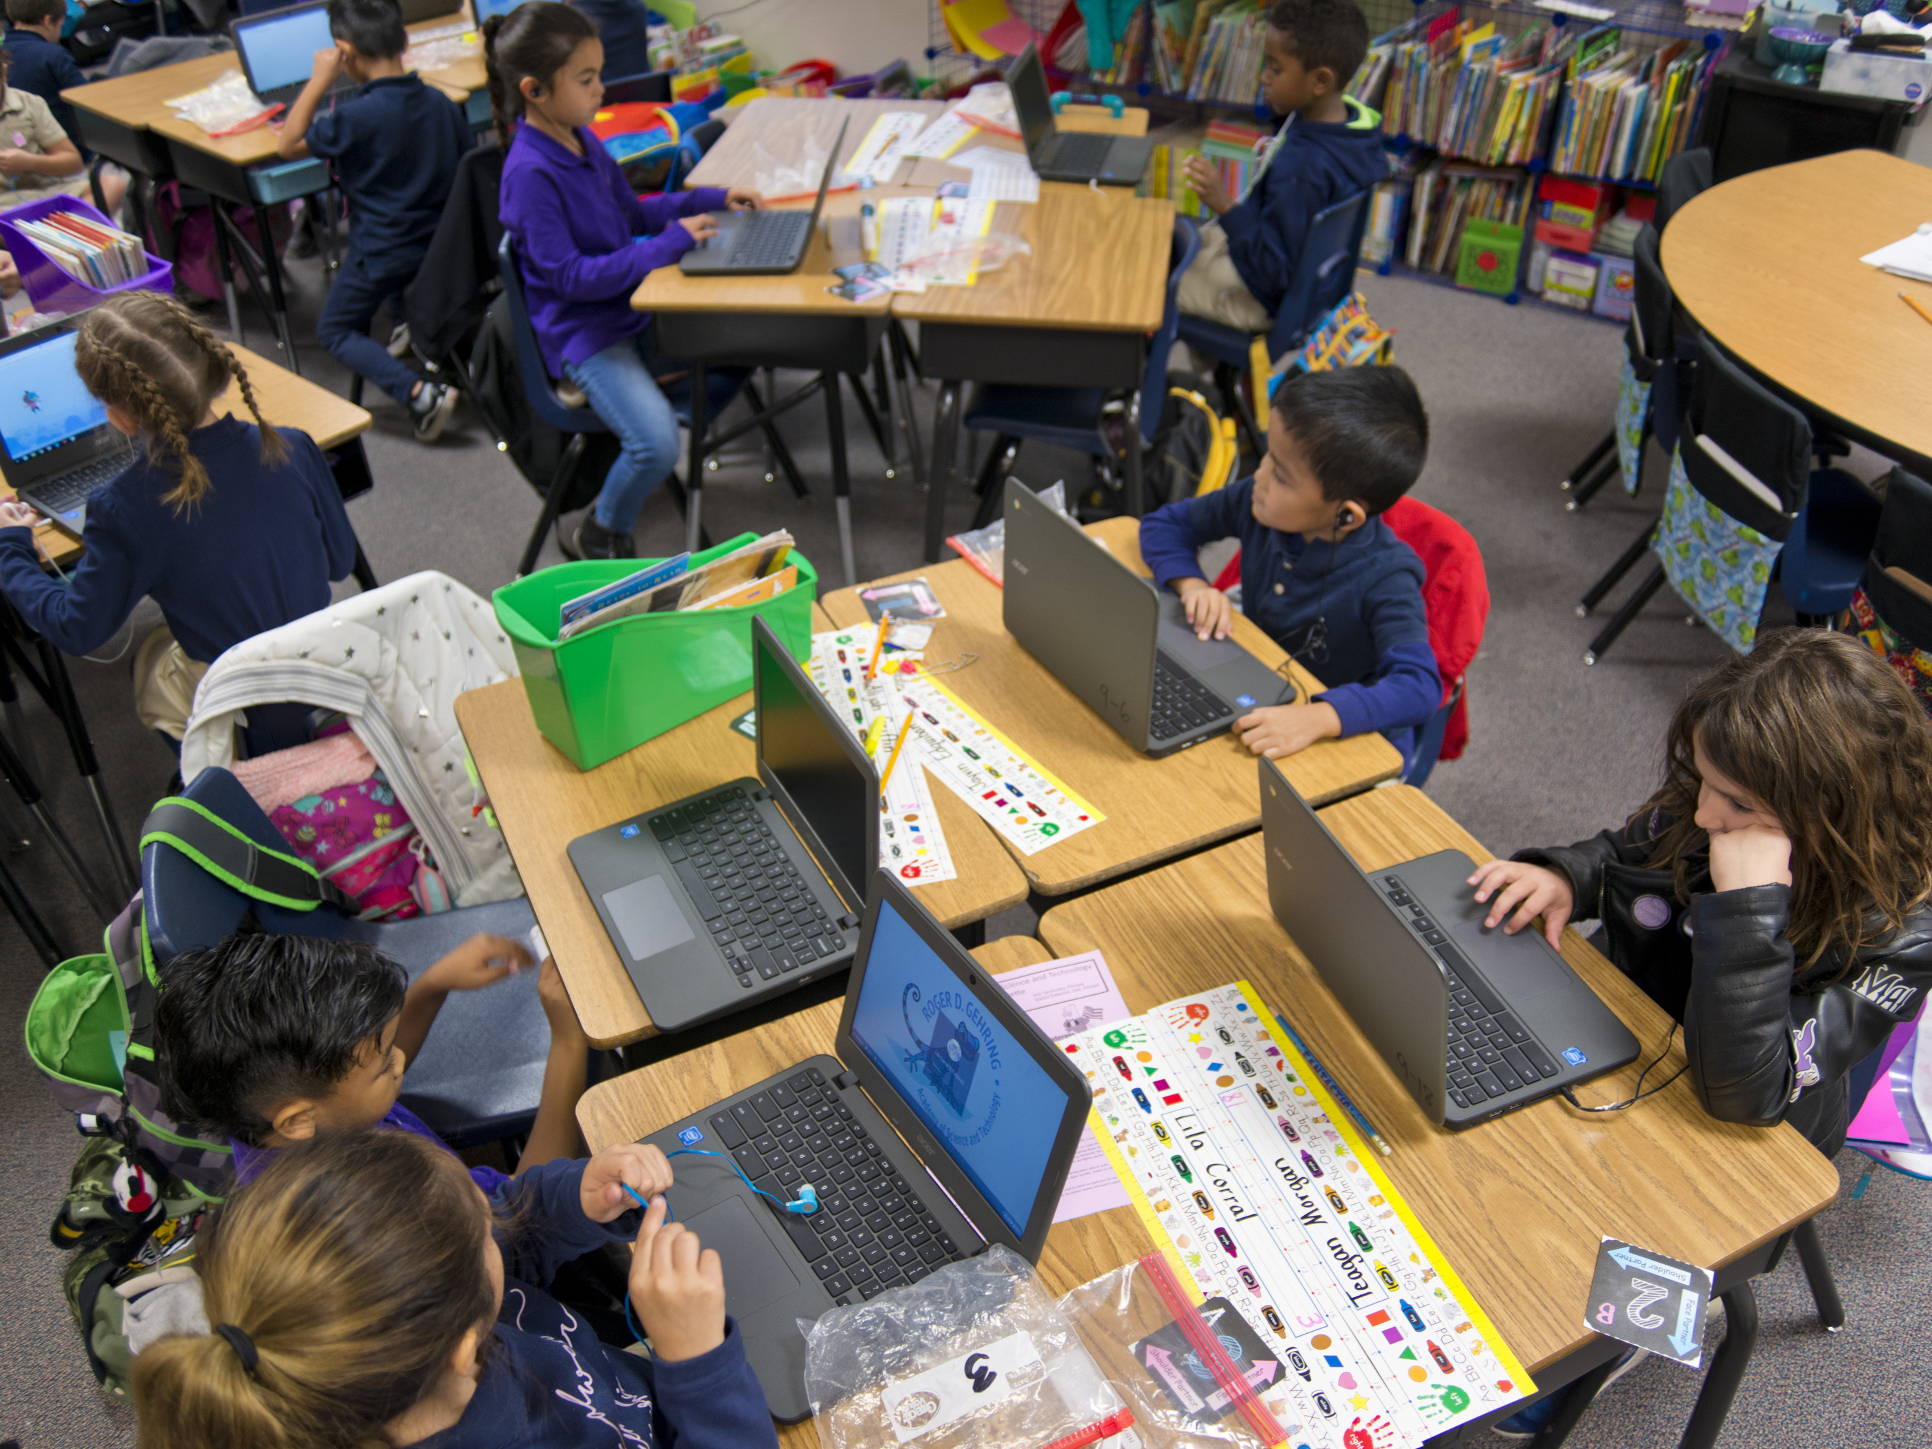
[[[0,342],[0,471],[21,502],[81,537],[87,495],[133,454],[73,371],[73,340],[66,325]]]

